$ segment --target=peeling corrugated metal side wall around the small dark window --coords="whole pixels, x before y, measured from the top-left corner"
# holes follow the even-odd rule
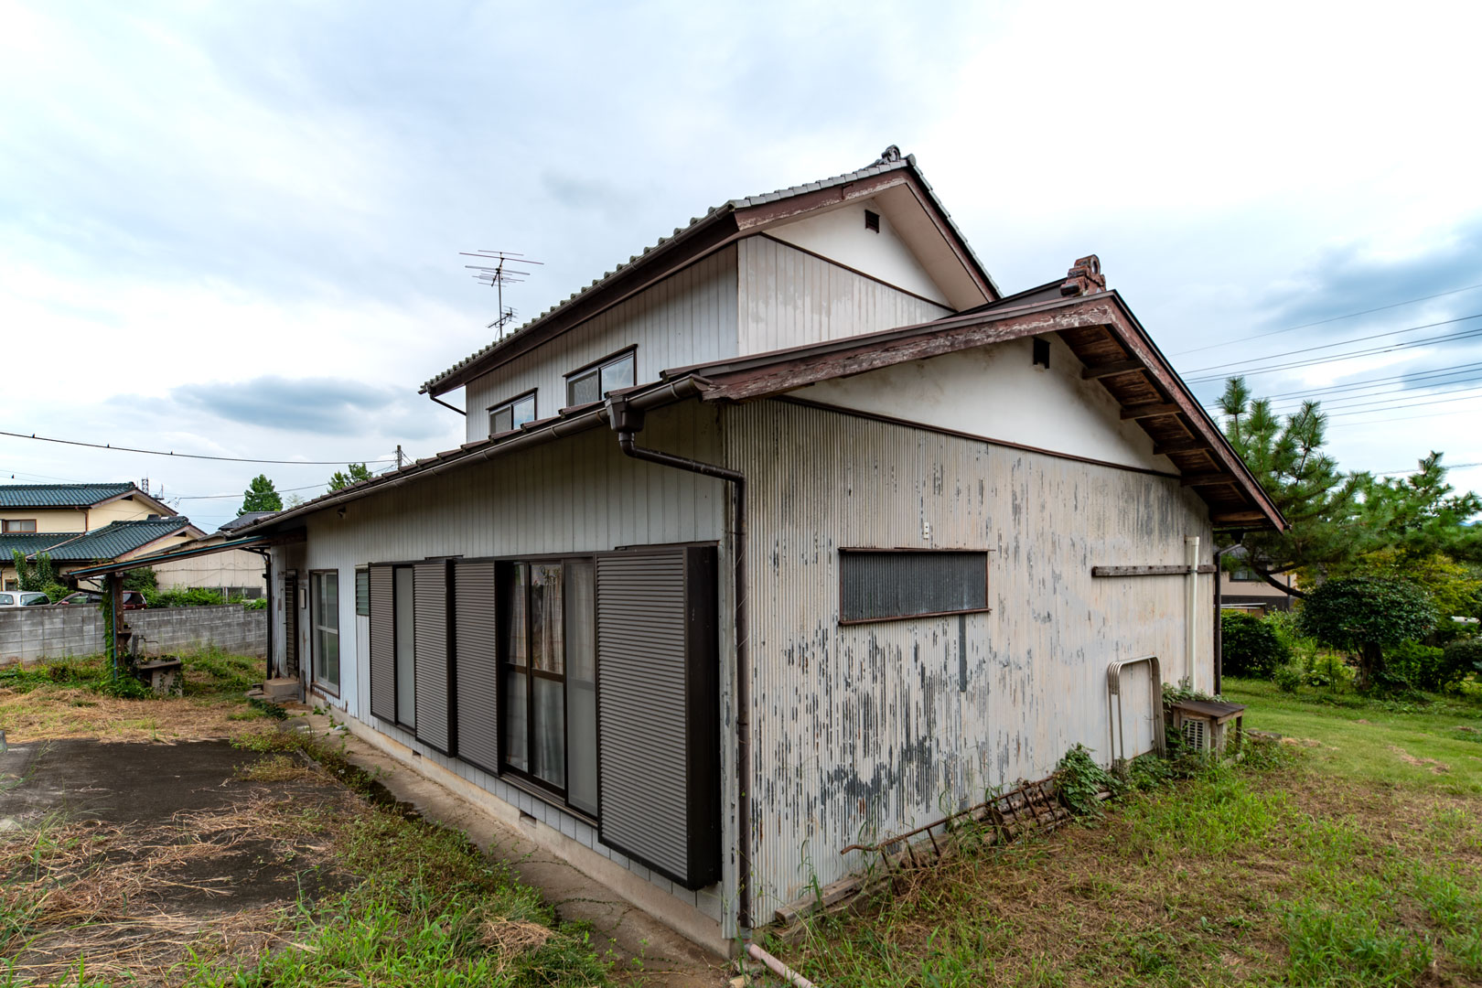
[[[1187,578],[1091,576],[1183,563],[1187,535],[1208,560],[1205,513],[1177,480],[782,401],[728,409],[726,434],[750,481],[759,915],[863,867],[839,855],[861,837],[1042,778],[1076,742],[1106,761],[1112,659],[1181,668]],[[993,610],[840,627],[840,547],[993,550]]]

